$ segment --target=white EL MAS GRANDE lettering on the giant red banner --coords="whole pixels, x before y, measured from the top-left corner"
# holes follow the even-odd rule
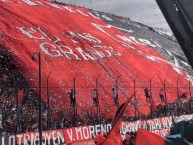
[[[83,42],[89,42],[87,47],[83,46],[74,48],[74,51],[69,46],[63,45],[64,43],[58,37],[52,37],[48,34],[47,31],[42,30],[40,27],[38,28],[25,28],[25,27],[17,27],[23,34],[25,34],[30,39],[35,39],[40,42],[41,50],[53,58],[67,58],[69,60],[97,60],[99,58],[107,58],[112,56],[121,56],[119,52],[114,52],[114,48],[112,46],[102,46],[101,41],[92,36],[89,33],[77,33],[77,32],[65,32],[62,33],[64,36],[67,36],[72,43],[78,44]],[[50,42],[48,42],[50,41]],[[60,44],[62,45],[60,45]],[[96,45],[97,44],[97,45]],[[93,46],[92,46],[93,45]],[[76,52],[75,52],[76,51]],[[78,56],[81,56],[81,58]]]

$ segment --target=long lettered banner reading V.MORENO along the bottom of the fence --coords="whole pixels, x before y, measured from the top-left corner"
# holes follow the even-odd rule
[[[122,139],[125,139],[126,133],[137,132],[139,129],[147,130],[158,136],[166,137],[170,134],[170,128],[175,123],[180,121],[188,121],[193,118],[193,115],[182,115],[174,117],[162,117],[150,120],[138,120],[135,122],[122,122],[120,134]],[[174,120],[174,122],[173,122]],[[87,125],[72,128],[65,128],[60,130],[44,131],[43,144],[94,144],[94,137],[103,132],[110,132],[112,129],[111,124],[97,124]],[[148,133],[147,133],[148,134]],[[149,135],[149,134],[148,134]],[[160,138],[159,137],[159,138]],[[11,136],[3,136],[0,138],[1,145],[36,145],[39,142],[39,133],[30,132],[23,134],[16,134]]]

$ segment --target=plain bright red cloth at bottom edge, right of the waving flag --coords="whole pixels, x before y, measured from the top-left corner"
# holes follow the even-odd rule
[[[165,145],[165,139],[154,133],[139,129],[134,145]]]

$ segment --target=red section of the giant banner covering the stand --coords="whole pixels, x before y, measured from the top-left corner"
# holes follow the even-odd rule
[[[160,53],[93,17],[85,8],[38,0],[9,0],[0,1],[0,14],[0,49],[9,52],[8,56],[27,83],[38,88],[38,56],[32,60],[33,52],[41,52],[42,86],[47,85],[52,71],[49,77],[52,112],[67,110],[66,114],[73,114],[66,92],[73,88],[73,77],[77,73],[76,101],[80,118],[85,118],[89,110],[93,114],[97,112],[96,107],[93,108],[91,87],[99,74],[100,111],[105,118],[115,114],[112,87],[120,74],[120,86],[133,86],[134,76],[138,76],[136,87],[149,85],[148,78],[153,75],[154,87],[163,86],[161,81],[165,79],[167,86],[176,86],[178,78],[181,86],[188,84],[186,73],[180,68],[178,73]],[[149,59],[151,57],[156,60]],[[180,87],[179,90],[184,92]],[[38,89],[36,92],[38,94]],[[131,92],[131,89],[119,91],[119,103]],[[159,90],[152,89],[152,94],[155,105],[160,104]],[[168,103],[174,102],[176,90],[168,89],[167,96]],[[47,103],[48,97],[42,97]],[[149,114],[149,106],[143,103],[146,102],[143,91],[137,92],[137,100],[140,114]],[[134,115],[134,107],[128,107],[126,114]]]

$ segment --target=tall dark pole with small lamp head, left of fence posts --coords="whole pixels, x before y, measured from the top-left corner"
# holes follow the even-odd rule
[[[41,76],[41,53],[34,52],[32,60],[36,60],[35,54],[38,55],[38,67],[39,67],[39,145],[42,145],[42,76]]]

